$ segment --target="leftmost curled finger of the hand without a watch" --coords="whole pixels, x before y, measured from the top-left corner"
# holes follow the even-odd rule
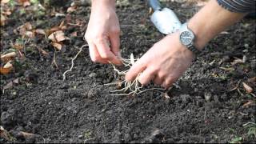
[[[89,45],[89,51],[90,51],[90,58],[93,62],[101,62],[101,63],[108,63],[104,59],[101,58],[101,56],[98,54],[98,50],[94,43],[88,42]]]

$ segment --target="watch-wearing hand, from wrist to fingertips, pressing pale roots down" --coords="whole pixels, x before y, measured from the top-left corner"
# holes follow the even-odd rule
[[[126,81],[138,81],[146,85],[151,80],[165,88],[170,87],[190,66],[194,54],[179,42],[178,32],[170,34],[154,44],[134,63],[126,74]]]

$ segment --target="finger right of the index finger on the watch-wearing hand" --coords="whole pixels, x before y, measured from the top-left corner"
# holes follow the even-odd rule
[[[146,68],[138,78],[138,82],[142,85],[148,84],[154,78],[154,70]]]

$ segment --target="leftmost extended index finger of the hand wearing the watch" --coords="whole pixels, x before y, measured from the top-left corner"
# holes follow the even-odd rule
[[[138,76],[138,74],[145,69],[146,69],[146,64],[144,64],[144,61],[142,59],[139,59],[137,62],[134,63],[133,66],[131,66],[130,70],[127,72],[126,81],[128,82],[134,81],[134,79]]]

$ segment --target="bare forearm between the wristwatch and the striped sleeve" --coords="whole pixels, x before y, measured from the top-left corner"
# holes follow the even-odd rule
[[[194,45],[201,49],[217,34],[243,18],[245,13],[234,13],[222,8],[216,0],[210,0],[188,24],[196,35]]]

